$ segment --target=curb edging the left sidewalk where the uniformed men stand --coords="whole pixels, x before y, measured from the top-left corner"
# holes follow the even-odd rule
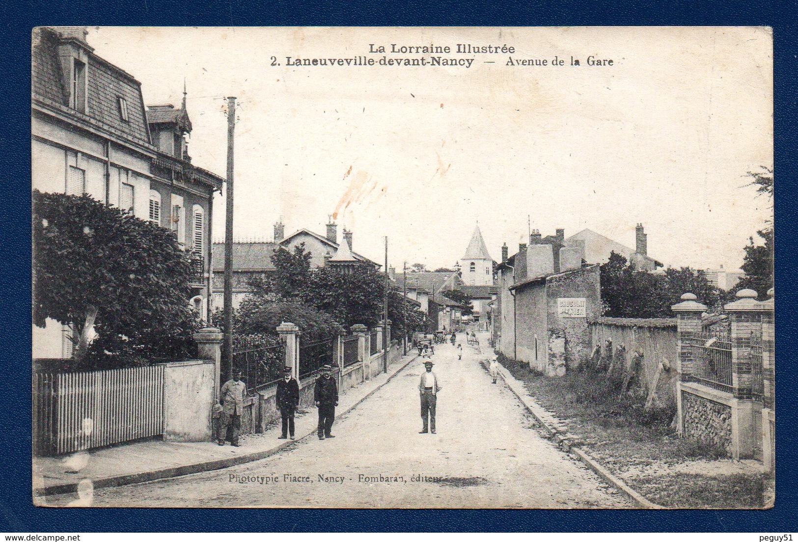
[[[374,388],[373,390],[369,391],[368,394],[365,394],[362,398],[358,399],[357,402],[354,402],[352,406],[343,410],[337,417],[342,418],[346,417],[348,413],[354,410],[361,402],[364,402],[366,399],[371,397],[377,390],[380,390],[382,386],[385,386],[388,382],[393,380],[393,378],[401,373],[405,367],[409,366],[413,361],[418,358],[418,355],[413,355],[407,362],[402,364],[397,370],[393,372],[392,375],[388,377],[385,382],[382,382],[379,386]],[[219,470],[219,469],[227,469],[227,467],[235,467],[235,465],[243,465],[243,463],[251,463],[252,461],[259,461],[261,459],[265,459],[275,453],[282,451],[282,449],[286,449],[291,445],[296,445],[306,437],[310,437],[310,435],[315,434],[316,429],[313,429],[306,435],[298,437],[295,441],[286,441],[281,442],[279,445],[275,445],[274,447],[266,450],[261,450],[259,452],[248,453],[247,455],[241,455],[236,457],[227,457],[226,459],[215,459],[213,461],[205,461],[203,463],[195,463],[193,465],[181,465],[179,467],[169,467],[168,469],[160,469],[154,470],[148,473],[135,473],[135,474],[124,474],[122,476],[117,477],[108,477],[108,478],[100,478],[98,480],[93,480],[94,489],[103,489],[103,488],[116,488],[121,485],[132,485],[132,484],[141,484],[143,482],[151,482],[156,480],[163,480],[165,478],[176,478],[180,476],[186,476],[187,474],[196,474],[196,473],[205,473],[212,470]],[[50,485],[46,488],[36,489],[34,493],[41,497],[51,496],[51,495],[61,495],[64,493],[75,493],[77,492],[77,483],[76,482],[69,482],[68,484],[58,484],[58,485]],[[45,506],[47,506],[45,504]]]

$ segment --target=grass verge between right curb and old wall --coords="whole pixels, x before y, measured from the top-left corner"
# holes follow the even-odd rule
[[[540,406],[580,437],[583,449],[652,502],[669,508],[764,508],[764,475],[725,459],[723,449],[679,438],[670,425],[675,407],[646,412],[639,398],[618,394],[600,372],[547,378],[503,362]]]

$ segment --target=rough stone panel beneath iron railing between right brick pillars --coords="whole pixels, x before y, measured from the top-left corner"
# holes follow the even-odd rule
[[[728,405],[709,401],[682,392],[681,408],[684,429],[682,436],[697,438],[732,452],[732,409]]]

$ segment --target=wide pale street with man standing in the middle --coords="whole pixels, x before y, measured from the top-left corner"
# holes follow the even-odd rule
[[[463,344],[461,361],[448,344],[437,346],[433,356],[443,388],[436,435],[418,433],[417,384],[424,367],[413,362],[349,416],[337,420],[334,439],[309,437],[275,456],[230,469],[97,490],[94,505],[629,506],[622,496],[610,493],[595,473],[531,429],[531,417],[512,392],[501,383],[492,385],[480,364],[487,354],[466,345],[463,334],[458,342]],[[422,481],[417,481],[419,476]],[[71,498],[57,497],[50,503],[65,504]]]

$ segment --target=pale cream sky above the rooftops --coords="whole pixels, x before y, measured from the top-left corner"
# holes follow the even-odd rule
[[[286,233],[323,235],[334,215],[359,254],[382,263],[387,236],[389,265],[435,268],[462,257],[477,222],[496,260],[530,227],[634,247],[642,223],[666,266],[734,268],[772,220],[745,186],[773,164],[768,29],[101,27],[87,39],[148,105],[179,105],[185,80],[192,162],[220,176],[224,97],[238,98],[236,239],[271,240],[281,217]],[[303,58],[327,60],[289,65]],[[217,194],[215,239],[224,217]]]

